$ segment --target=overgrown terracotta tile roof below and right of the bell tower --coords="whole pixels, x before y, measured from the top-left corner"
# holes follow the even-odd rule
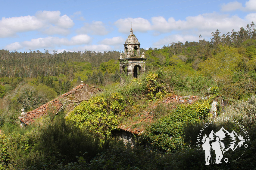
[[[166,97],[164,98],[163,101],[157,101],[156,103],[152,103],[152,105],[149,106],[144,112],[137,113],[134,117],[129,118],[125,124],[120,124],[118,128],[128,133],[141,135],[145,131],[145,126],[150,125],[154,121],[153,120],[154,108],[158,106],[159,103],[192,104],[198,99],[199,98],[196,96],[172,95],[172,96]],[[176,108],[175,105],[168,105],[168,106],[167,107],[169,109]]]

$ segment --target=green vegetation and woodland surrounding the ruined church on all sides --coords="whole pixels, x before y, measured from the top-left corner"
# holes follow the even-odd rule
[[[204,152],[195,146],[199,129],[212,116],[213,101],[218,102],[217,116],[242,122],[250,141],[244,154],[241,149],[228,153],[229,157],[243,154],[234,163],[210,169],[255,168],[255,25],[212,35],[211,41],[141,49],[147,70],[137,79],[119,73],[116,51],[0,50],[0,97],[5,105],[0,108],[0,169],[209,169],[204,166]],[[64,111],[20,128],[17,117],[22,107],[32,110],[81,81],[104,91],[66,117]],[[169,110],[161,101],[171,94],[202,98]],[[230,106],[222,106],[222,100]],[[115,139],[112,132],[119,124],[138,121],[133,116],[154,103],[160,103],[152,113],[154,122],[139,124],[147,129],[138,145],[131,148]],[[222,126],[223,122],[212,124],[208,131]],[[225,126],[238,130],[234,124]]]

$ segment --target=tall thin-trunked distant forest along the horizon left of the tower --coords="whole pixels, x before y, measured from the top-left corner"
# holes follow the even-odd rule
[[[38,77],[68,75],[73,72],[71,62],[89,62],[92,67],[99,67],[102,62],[119,58],[118,51],[108,52],[60,52],[54,54],[45,51],[9,52],[0,50],[0,77]]]

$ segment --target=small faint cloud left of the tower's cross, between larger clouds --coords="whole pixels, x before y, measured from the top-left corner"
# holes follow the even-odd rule
[[[109,31],[106,29],[105,24],[101,21],[93,21],[85,23],[83,27],[76,31],[78,34],[94,34],[94,35],[106,35]]]

